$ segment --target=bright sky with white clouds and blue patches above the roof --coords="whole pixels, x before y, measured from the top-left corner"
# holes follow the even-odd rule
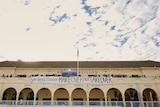
[[[0,61],[160,61],[160,0],[1,0]]]

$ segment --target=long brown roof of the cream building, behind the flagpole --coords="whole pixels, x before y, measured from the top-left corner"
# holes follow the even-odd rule
[[[0,67],[17,68],[76,68],[77,61],[3,61]],[[137,68],[160,67],[160,62],[155,61],[79,61],[80,68]]]

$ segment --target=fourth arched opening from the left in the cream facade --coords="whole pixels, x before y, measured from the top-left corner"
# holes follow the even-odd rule
[[[69,93],[64,88],[59,88],[54,93],[54,100],[57,105],[68,105],[69,104]]]

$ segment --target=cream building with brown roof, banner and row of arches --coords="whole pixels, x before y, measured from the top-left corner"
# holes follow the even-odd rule
[[[0,62],[0,107],[160,107],[160,62]]]

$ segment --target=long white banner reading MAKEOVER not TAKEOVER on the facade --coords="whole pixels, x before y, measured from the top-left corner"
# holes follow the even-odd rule
[[[110,84],[112,77],[31,77],[33,83],[57,83],[57,84]]]

